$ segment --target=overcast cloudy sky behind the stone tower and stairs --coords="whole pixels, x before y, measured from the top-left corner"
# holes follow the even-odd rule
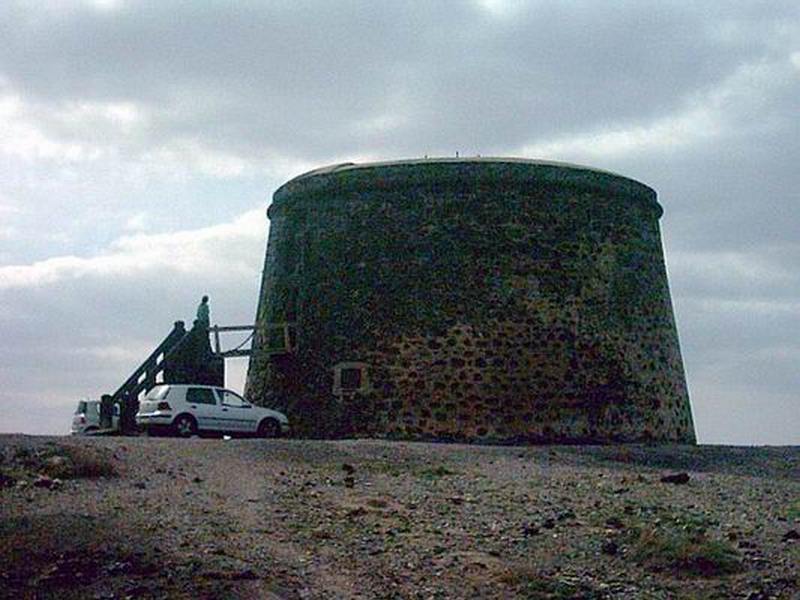
[[[800,443],[797,0],[4,0],[0,40],[0,431],[203,293],[252,323],[287,179],[458,151],[654,187],[700,441]]]

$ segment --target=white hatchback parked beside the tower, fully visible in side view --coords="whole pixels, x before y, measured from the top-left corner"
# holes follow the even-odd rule
[[[254,406],[236,392],[208,385],[154,387],[139,404],[136,424],[148,432],[181,437],[200,432],[277,437],[289,431],[289,419],[283,413]]]

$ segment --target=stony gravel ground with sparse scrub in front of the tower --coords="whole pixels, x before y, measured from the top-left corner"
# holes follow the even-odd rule
[[[9,598],[800,598],[799,532],[797,447],[0,436]]]

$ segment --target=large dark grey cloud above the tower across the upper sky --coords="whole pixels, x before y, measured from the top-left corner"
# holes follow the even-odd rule
[[[5,19],[2,71],[46,103],[132,100],[146,135],[319,159],[487,151],[641,120],[769,57],[789,4],[532,3],[493,19],[463,2],[137,3]],[[190,10],[186,10],[190,9]],[[730,38],[718,33],[728,23]],[[748,35],[749,34],[749,35]],[[742,43],[746,40],[746,43]],[[363,119],[401,124],[370,133]],[[388,138],[388,139],[387,139]],[[503,140],[498,142],[498,140]]]

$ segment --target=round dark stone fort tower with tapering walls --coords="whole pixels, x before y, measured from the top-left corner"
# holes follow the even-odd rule
[[[695,434],[651,188],[513,158],[275,192],[246,394],[308,437]]]

